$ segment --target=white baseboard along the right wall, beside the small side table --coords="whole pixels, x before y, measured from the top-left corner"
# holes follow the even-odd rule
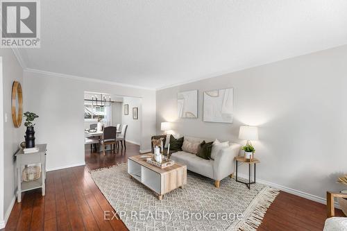
[[[234,176],[236,176],[236,173],[234,173]],[[240,178],[248,179],[248,175],[243,174],[243,173],[237,173],[237,176],[240,177]],[[289,187],[278,185],[276,183],[269,182],[269,181],[266,181],[266,180],[262,180],[262,179],[259,179],[259,178],[256,178],[256,182],[260,183],[260,184],[263,184],[263,185],[268,185],[268,186],[276,188],[276,189],[280,189],[281,191],[285,191],[285,192],[287,192],[289,194],[294,194],[296,196],[300,196],[300,197],[306,198],[308,200],[313,200],[313,201],[316,201],[316,202],[321,203],[323,205],[326,205],[326,199],[322,198],[320,196],[314,196],[312,194],[307,194],[304,191],[291,189]],[[339,207],[339,203],[337,203],[337,201],[335,201],[335,207],[337,209],[340,208]]]

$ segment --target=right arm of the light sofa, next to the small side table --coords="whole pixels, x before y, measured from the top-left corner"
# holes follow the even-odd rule
[[[240,148],[239,144],[231,144],[228,148],[219,151],[213,163],[214,180],[222,180],[234,173],[235,157],[239,155]]]

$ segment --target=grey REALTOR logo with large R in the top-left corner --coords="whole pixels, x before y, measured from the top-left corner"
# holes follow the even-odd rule
[[[1,1],[1,46],[40,48],[40,1]]]

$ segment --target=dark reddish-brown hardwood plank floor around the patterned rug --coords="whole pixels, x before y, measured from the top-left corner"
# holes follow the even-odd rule
[[[88,171],[126,162],[138,153],[139,146],[130,143],[126,151],[106,152],[105,157],[86,151],[86,166],[48,172],[46,196],[40,189],[25,192],[4,230],[127,230],[120,220],[103,219],[103,211],[113,209]],[[281,191],[258,230],[322,230],[325,214],[325,205]]]

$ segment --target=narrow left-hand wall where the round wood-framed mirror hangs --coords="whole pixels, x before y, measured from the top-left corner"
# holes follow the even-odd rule
[[[19,143],[24,140],[25,131],[23,123],[20,128],[15,128],[12,122],[11,93],[13,81],[17,80],[21,83],[23,92],[26,89],[23,84],[23,69],[19,65],[13,51],[11,49],[0,49],[0,56],[3,62],[3,84],[1,85],[3,96],[3,113],[1,113],[3,119],[3,158],[1,158],[3,160],[3,168],[1,166],[1,171],[3,169],[3,173],[1,173],[1,177],[4,176],[3,185],[1,185],[1,191],[3,191],[3,206],[0,209],[3,210],[3,216],[0,217],[1,223],[1,220],[4,219],[6,221],[8,219],[14,202],[17,189],[14,155],[19,149]],[[24,106],[25,103],[26,99],[24,98]],[[5,114],[7,114],[7,121]],[[2,139],[2,136],[0,139]]]

